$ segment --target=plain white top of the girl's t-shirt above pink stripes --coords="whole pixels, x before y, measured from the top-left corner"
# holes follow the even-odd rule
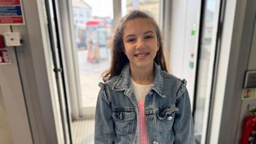
[[[132,82],[133,91],[137,98],[137,101],[145,101],[145,96],[150,90],[153,83],[149,85],[140,85],[135,83],[132,78],[131,78],[131,82]]]

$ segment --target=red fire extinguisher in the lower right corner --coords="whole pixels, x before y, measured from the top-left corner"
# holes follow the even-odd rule
[[[251,109],[251,115],[245,117],[241,144],[254,144],[256,143],[256,111],[255,108]]]

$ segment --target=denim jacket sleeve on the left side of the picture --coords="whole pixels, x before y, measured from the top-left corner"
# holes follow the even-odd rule
[[[101,87],[95,111],[94,143],[114,143],[115,131],[114,121],[111,117],[111,101],[106,92],[105,84],[99,83]]]

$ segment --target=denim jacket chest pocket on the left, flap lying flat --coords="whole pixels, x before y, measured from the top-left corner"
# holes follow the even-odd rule
[[[114,111],[111,116],[115,122],[116,134],[129,134],[135,119],[135,111]]]

